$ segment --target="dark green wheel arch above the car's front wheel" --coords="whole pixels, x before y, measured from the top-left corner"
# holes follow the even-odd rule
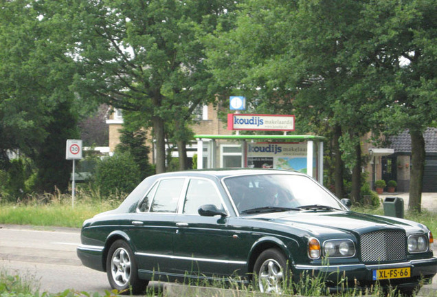
[[[258,239],[258,241],[252,245],[252,248],[249,252],[249,259],[247,261],[247,272],[249,274],[254,272],[255,262],[256,259],[258,259],[258,256],[270,248],[278,248],[278,250],[284,253],[289,263],[293,263],[293,257],[291,255],[291,251],[289,248],[287,248],[287,245],[276,237],[266,236]]]

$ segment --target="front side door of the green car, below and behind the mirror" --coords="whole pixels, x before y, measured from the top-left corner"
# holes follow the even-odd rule
[[[198,209],[214,204],[229,214],[216,184],[210,179],[191,178],[183,205],[175,218],[175,273],[183,276],[230,275],[245,267],[245,261],[232,259],[232,247],[238,244],[229,229],[229,217],[203,217]]]

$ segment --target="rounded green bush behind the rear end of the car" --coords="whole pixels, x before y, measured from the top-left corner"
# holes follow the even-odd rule
[[[93,187],[103,196],[114,192],[131,192],[142,180],[139,166],[130,153],[115,152],[98,162]]]

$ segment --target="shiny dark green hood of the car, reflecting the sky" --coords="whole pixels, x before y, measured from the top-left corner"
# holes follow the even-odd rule
[[[337,230],[338,232],[363,233],[386,228],[402,228],[407,233],[418,230],[427,232],[425,225],[414,221],[352,211],[309,210],[301,212],[274,212],[257,214],[251,216],[251,218],[293,225],[295,228],[302,228],[315,233],[326,232],[326,229],[330,229],[331,232]]]

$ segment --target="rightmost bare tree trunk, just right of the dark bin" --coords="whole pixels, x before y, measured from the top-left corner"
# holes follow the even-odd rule
[[[408,210],[421,212],[423,172],[425,170],[425,140],[421,131],[410,130],[411,174]]]

